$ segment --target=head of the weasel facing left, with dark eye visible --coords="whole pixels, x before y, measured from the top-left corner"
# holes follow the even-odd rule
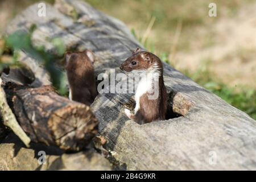
[[[120,69],[125,72],[151,71],[162,68],[162,63],[157,56],[147,51],[141,51],[139,48],[120,66]]]

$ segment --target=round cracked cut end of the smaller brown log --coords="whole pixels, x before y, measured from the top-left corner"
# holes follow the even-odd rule
[[[98,130],[98,121],[89,106],[72,104],[56,110],[48,127],[60,148],[79,151],[87,146]]]

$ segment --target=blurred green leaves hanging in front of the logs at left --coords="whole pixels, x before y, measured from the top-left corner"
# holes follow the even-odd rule
[[[55,46],[55,53],[49,53],[43,46],[35,47],[31,43],[31,35],[35,30],[35,26],[31,27],[30,32],[16,31],[13,34],[5,38],[6,46],[14,51],[23,50],[35,60],[40,61],[51,77],[51,81],[56,90],[61,94],[67,94],[67,88],[65,86],[64,72],[57,67],[56,61],[63,57],[65,47],[61,39],[53,38],[49,39],[49,42]],[[0,64],[0,69],[7,66],[18,64],[18,59],[14,54],[13,61],[9,64]]]

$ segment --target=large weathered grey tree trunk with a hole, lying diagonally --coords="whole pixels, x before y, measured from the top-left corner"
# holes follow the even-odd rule
[[[46,38],[56,36],[68,48],[91,49],[97,56],[97,75],[109,75],[110,68],[118,73],[131,51],[142,48],[119,20],[81,1],[61,2],[55,7],[47,5],[46,17],[37,15],[38,5],[29,7],[9,24],[7,34],[28,31],[36,24],[32,40],[48,51],[55,50]],[[79,15],[78,20],[69,16],[71,10]],[[23,54],[23,63],[33,60]],[[48,82],[44,75],[36,79],[42,85]],[[108,140],[106,148],[114,151],[115,159],[125,163],[127,169],[256,169],[254,119],[167,64],[164,82],[170,96],[171,119],[166,121],[138,125],[129,120],[123,107],[131,94],[97,96],[92,110],[100,121],[100,133]],[[174,113],[181,116],[173,118]]]

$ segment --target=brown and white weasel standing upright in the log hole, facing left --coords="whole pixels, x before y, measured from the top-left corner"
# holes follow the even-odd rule
[[[140,73],[141,80],[135,92],[134,114],[125,109],[127,117],[139,124],[164,120],[167,111],[167,92],[163,81],[163,64],[154,54],[137,48],[120,69]],[[152,97],[152,96],[156,97]]]

